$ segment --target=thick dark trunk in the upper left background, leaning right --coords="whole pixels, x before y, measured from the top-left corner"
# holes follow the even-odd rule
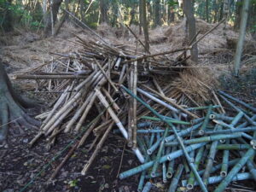
[[[57,20],[57,15],[61,6],[62,0],[52,0],[48,11],[45,16],[44,23],[44,37],[49,35],[49,32],[55,26],[55,22]]]

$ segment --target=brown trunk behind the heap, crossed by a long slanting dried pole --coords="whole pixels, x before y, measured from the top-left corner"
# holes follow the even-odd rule
[[[189,42],[195,37],[196,28],[195,28],[195,16],[193,14],[193,8],[191,0],[186,0],[183,2],[183,12],[187,17],[188,26],[189,26]],[[196,39],[195,39],[196,40]],[[198,49],[197,44],[195,44],[190,50],[191,60],[198,62]]]

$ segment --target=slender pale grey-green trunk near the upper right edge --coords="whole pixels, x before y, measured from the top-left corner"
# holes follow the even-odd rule
[[[240,64],[241,64],[241,53],[242,47],[244,43],[244,38],[246,35],[247,29],[247,17],[248,17],[248,9],[249,9],[250,0],[244,0],[242,9],[241,9],[241,23],[240,23],[240,30],[239,30],[239,39],[236,45],[236,55],[235,55],[235,76],[239,76]]]

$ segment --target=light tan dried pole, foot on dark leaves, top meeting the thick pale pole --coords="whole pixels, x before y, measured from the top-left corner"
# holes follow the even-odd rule
[[[104,135],[103,135],[101,141],[97,144],[95,151],[94,151],[93,154],[90,156],[90,160],[88,160],[88,162],[84,165],[84,168],[83,168],[83,170],[82,170],[82,172],[81,172],[82,175],[85,175],[85,174],[87,173],[87,171],[88,171],[88,169],[90,168],[90,166],[91,166],[93,160],[95,160],[96,155],[98,154],[100,148],[102,148],[103,143],[104,143],[105,140],[107,139],[108,133],[111,131],[111,129],[112,129],[112,127],[113,127],[113,124],[114,124],[114,122],[108,126],[108,130],[104,133]]]

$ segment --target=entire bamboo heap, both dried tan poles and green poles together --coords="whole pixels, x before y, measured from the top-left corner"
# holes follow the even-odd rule
[[[86,139],[93,135],[95,139],[89,150],[94,148],[94,152],[81,171],[86,174],[113,127],[118,127],[115,132],[125,138],[142,163],[119,174],[124,179],[142,172],[138,191],[148,191],[152,183],[146,183],[144,189],[143,183],[148,178],[153,181],[154,177],[162,177],[163,183],[172,180],[169,191],[175,191],[177,186],[193,189],[195,185],[207,191],[208,184],[219,182],[216,191],[223,191],[232,179],[254,177],[255,108],[222,91],[216,95],[213,90],[209,90],[212,105],[189,108],[172,97],[170,84],[160,84],[154,77],[156,71],[163,75],[175,73],[176,68],[161,65],[166,63],[163,55],[190,48],[143,55],[125,49],[124,45],[81,38],[78,44],[83,49],[61,55],[61,59],[46,66],[44,73],[14,76],[15,79],[35,79],[56,96],[51,109],[38,115],[43,123],[29,143],[31,146],[40,137],[47,139],[50,148],[60,133],[76,135],[77,141],[51,179],[73,151],[84,147]],[[175,61],[170,62],[169,65],[176,65]],[[228,116],[219,98],[237,114]],[[223,162],[213,166],[217,152],[223,154]],[[240,173],[244,165],[248,165],[249,172]],[[218,170],[221,170],[220,177],[210,177]]]

